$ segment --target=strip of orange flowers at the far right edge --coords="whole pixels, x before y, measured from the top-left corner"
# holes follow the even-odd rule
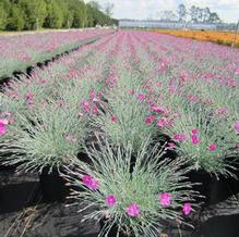
[[[157,33],[192,38],[203,41],[212,41],[218,45],[232,46],[239,48],[239,34],[235,36],[232,32],[213,32],[213,30],[177,30],[177,29],[157,29]]]

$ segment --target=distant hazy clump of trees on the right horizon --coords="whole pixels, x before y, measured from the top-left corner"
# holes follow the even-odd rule
[[[192,23],[222,23],[223,21],[216,12],[210,8],[199,8],[192,5],[187,9],[184,4],[179,4],[177,13],[174,11],[163,11],[160,20],[167,22],[192,22]]]

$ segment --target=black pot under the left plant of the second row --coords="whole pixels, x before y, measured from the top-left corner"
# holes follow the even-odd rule
[[[45,167],[39,175],[39,182],[45,202],[61,202],[70,195],[70,187],[65,185],[67,182],[60,176],[57,169],[49,173],[49,169]]]

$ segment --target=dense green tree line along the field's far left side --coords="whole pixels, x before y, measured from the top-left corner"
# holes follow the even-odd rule
[[[96,1],[0,0],[0,30],[83,28],[113,25],[112,5],[105,11]]]

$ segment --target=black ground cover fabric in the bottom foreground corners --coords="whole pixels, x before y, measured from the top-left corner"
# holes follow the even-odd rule
[[[160,237],[238,237],[238,199],[235,195],[195,215],[195,229],[165,223]],[[37,174],[0,170],[0,237],[96,237],[99,223],[82,223],[84,213],[79,213],[80,209],[67,208],[65,202],[45,203]]]

